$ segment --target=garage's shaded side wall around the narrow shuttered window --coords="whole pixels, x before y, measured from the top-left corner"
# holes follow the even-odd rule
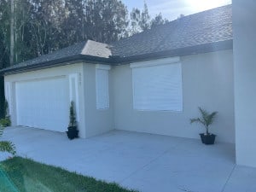
[[[93,137],[113,130],[113,88],[109,83],[109,108],[96,109],[96,65],[84,63],[83,73],[86,137]]]

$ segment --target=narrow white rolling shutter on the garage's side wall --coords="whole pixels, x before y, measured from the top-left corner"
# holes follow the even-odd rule
[[[109,108],[108,70],[109,66],[96,65],[96,109]]]

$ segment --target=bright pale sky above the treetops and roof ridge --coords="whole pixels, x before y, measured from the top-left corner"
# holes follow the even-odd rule
[[[144,0],[121,0],[128,10],[143,9]],[[203,10],[217,8],[232,3],[232,0],[146,0],[151,16],[160,12],[168,20],[176,20],[181,14],[191,15]]]

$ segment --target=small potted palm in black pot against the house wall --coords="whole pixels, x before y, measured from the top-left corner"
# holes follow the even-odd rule
[[[205,109],[199,108],[201,118],[190,119],[190,124],[201,123],[206,128],[205,133],[201,133],[201,142],[207,145],[214,144],[216,135],[209,132],[209,125],[212,125],[213,120],[218,112],[208,113]]]

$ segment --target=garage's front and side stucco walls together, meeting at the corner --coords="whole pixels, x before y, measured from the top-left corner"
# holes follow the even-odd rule
[[[40,69],[32,72],[17,73],[6,75],[5,84],[11,84],[11,91],[6,91],[9,96],[9,105],[11,108],[12,125],[16,125],[16,108],[15,108],[15,83],[20,81],[49,79],[54,77],[66,77],[67,84],[70,86],[70,78],[77,77],[78,90],[67,91],[68,97],[74,97],[75,103],[78,104],[78,125],[80,137],[92,137],[103,132],[113,130],[113,88],[109,84],[109,108],[96,109],[96,65],[88,63],[78,63],[62,67],[51,67]],[[109,82],[112,75],[109,72]],[[67,85],[68,86],[68,85]],[[38,89],[40,89],[38,87]],[[73,92],[74,93],[73,93]],[[71,99],[73,100],[73,99]],[[58,113],[58,112],[56,112]],[[69,117],[67,117],[69,118]],[[40,127],[38,127],[40,128]]]

